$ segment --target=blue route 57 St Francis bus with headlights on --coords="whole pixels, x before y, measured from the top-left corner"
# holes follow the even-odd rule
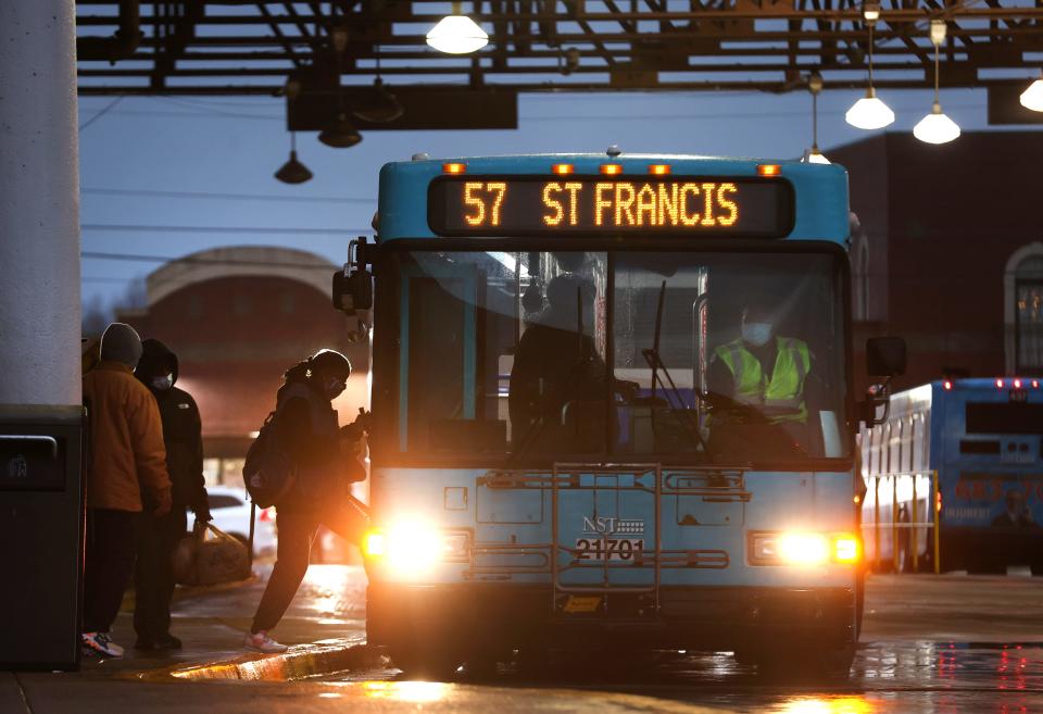
[[[841,166],[418,156],[376,225],[334,287],[374,308],[370,644],[432,677],[645,649],[846,676],[885,390],[852,393]],[[715,389],[744,315],[799,404]]]

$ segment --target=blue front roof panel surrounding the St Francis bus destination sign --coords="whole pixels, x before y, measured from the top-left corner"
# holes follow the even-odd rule
[[[668,164],[678,177],[756,177],[758,166],[779,166],[779,179],[795,195],[793,229],[786,240],[825,240],[846,247],[850,220],[847,172],[837,164],[768,161],[682,154],[561,153],[508,156],[465,156],[392,162],[380,171],[378,241],[398,238],[436,238],[427,221],[427,189],[444,175],[449,163],[464,164],[476,175],[545,175],[554,179],[554,164],[571,164],[577,175],[596,175],[603,164],[619,164],[618,177],[649,176],[652,164]],[[618,178],[617,177],[617,178]]]

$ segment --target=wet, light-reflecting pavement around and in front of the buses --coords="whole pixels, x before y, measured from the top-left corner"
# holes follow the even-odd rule
[[[531,675],[501,666],[451,682],[407,681],[363,651],[365,579],[360,568],[313,566],[274,635],[303,661],[322,662],[262,681],[171,677],[190,663],[242,655],[263,585],[180,599],[175,634],[186,650],[88,663],[75,674],[0,673],[0,714],[65,712],[772,712],[792,714],[1043,712],[1043,578],[877,576],[849,681],[822,686],[758,676],[730,653],[655,653],[607,666],[564,662]],[[133,643],[121,615],[117,641]],[[323,647],[309,643],[324,640]],[[353,649],[354,648],[354,649]],[[370,653],[372,654],[372,653]],[[251,666],[268,657],[246,660]],[[330,672],[338,662],[350,671]],[[324,669],[325,667],[325,669]],[[313,674],[310,678],[300,678]],[[267,676],[267,675],[265,675]],[[292,681],[272,681],[290,677]],[[261,677],[262,679],[264,676]]]

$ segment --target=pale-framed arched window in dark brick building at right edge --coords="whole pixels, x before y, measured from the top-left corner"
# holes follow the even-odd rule
[[[1004,278],[1007,373],[1043,374],[1043,243],[1016,251]]]

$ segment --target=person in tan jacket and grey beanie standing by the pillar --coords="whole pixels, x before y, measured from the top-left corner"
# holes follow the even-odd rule
[[[144,509],[171,510],[160,410],[133,373],[140,356],[134,328],[113,323],[101,338],[101,362],[84,376],[90,444],[81,637],[89,654],[123,654],[109,630],[134,573],[135,521]]]

